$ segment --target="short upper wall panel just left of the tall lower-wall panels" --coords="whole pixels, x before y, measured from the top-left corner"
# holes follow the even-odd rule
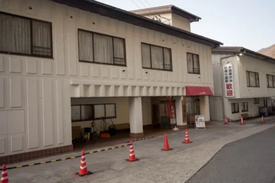
[[[22,107],[22,79],[10,77],[9,81],[10,108]]]

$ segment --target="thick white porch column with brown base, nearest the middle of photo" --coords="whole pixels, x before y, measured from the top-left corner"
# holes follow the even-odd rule
[[[129,97],[130,136],[142,137],[142,97]]]

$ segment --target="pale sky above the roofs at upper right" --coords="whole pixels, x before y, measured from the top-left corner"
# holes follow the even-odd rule
[[[275,44],[275,0],[97,0],[123,10],[175,5],[201,17],[191,32],[253,51]],[[139,7],[140,8],[139,8]]]

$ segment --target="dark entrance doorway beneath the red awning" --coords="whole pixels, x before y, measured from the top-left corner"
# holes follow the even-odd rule
[[[186,97],[186,113],[188,127],[195,126],[195,115],[199,115],[199,98]]]

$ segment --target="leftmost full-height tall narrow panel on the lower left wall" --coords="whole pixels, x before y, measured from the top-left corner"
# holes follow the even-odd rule
[[[39,147],[39,87],[35,77],[26,78],[28,149]]]

